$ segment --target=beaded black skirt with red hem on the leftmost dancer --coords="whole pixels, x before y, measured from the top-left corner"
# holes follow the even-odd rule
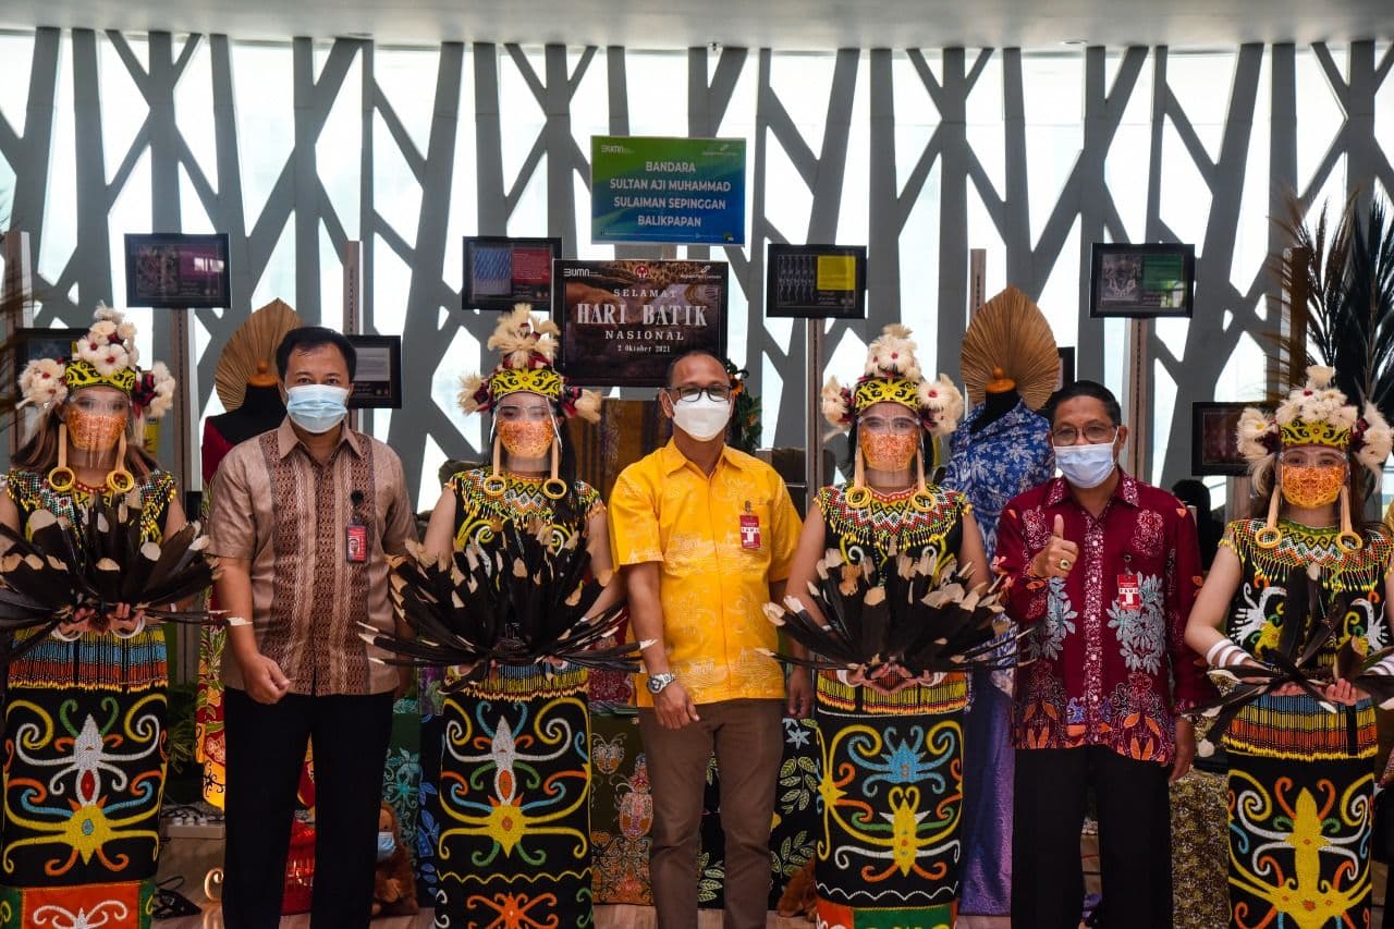
[[[164,635],[49,637],[10,668],[0,926],[149,926]]]

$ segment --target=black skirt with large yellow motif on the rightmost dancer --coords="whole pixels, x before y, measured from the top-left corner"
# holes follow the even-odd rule
[[[1365,928],[1370,921],[1369,759],[1230,750],[1230,925]]]

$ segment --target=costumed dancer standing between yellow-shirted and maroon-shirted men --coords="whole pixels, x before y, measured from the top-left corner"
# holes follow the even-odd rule
[[[852,573],[878,582],[906,555],[928,558],[935,575],[956,559],[970,583],[990,583],[967,499],[924,478],[926,446],[953,431],[963,399],[947,377],[921,377],[910,331],[887,326],[853,386],[828,381],[822,411],[850,432],[855,476],[818,491],[799,540],[790,597],[813,605],[809,584],[817,583],[829,548],[848,569],[863,568]],[[967,675],[958,671],[867,663],[818,672],[820,925],[953,925],[966,699]]]

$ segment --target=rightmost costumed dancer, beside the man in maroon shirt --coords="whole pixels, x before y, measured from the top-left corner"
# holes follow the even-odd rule
[[[1333,374],[1308,368],[1271,417],[1243,411],[1239,451],[1264,498],[1256,519],[1230,523],[1186,625],[1216,675],[1238,679],[1213,707],[1228,730],[1232,926],[1370,919],[1377,738],[1358,678],[1394,671],[1374,654],[1390,643],[1394,550],[1383,527],[1356,526],[1352,513],[1361,467],[1377,480],[1391,437],[1372,405],[1347,403]]]

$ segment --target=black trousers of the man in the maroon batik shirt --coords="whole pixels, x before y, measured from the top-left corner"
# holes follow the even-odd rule
[[[1076,929],[1085,898],[1079,830],[1094,790],[1104,929],[1171,928],[1168,769],[1101,745],[1018,749],[1013,929]]]

